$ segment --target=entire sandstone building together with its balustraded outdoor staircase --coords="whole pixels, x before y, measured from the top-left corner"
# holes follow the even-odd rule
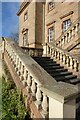
[[[19,46],[2,37],[4,61],[33,119],[80,119],[80,2],[66,1],[22,2]]]

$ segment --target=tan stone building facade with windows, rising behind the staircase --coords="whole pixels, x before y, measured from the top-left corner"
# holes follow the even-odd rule
[[[45,54],[44,44],[56,44],[59,37],[78,20],[79,6],[80,2],[23,2],[17,13],[19,46],[43,49]]]

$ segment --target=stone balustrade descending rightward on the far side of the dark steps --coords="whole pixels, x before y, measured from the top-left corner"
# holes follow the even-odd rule
[[[64,66],[70,68],[74,72],[80,72],[80,61],[72,56],[66,50],[55,46],[54,44],[47,43],[47,55],[50,55],[56,61],[60,61]]]

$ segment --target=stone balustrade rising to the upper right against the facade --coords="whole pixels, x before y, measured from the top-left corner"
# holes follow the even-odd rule
[[[57,40],[55,40],[54,44],[58,47],[64,47],[67,43],[69,43],[75,36],[79,37],[80,30],[80,17],[69,27],[69,29],[64,32]],[[80,41],[79,41],[80,43]]]

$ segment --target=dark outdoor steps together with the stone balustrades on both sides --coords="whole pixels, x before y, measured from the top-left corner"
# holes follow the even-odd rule
[[[79,61],[54,45],[47,45],[47,57],[31,57],[33,54],[24,53],[11,39],[3,40],[4,61],[26,98],[26,106],[30,103],[31,117],[79,120]],[[76,74],[73,75],[69,68]]]

